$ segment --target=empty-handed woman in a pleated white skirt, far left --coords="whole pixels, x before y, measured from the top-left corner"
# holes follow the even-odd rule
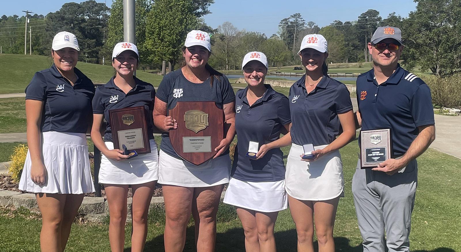
[[[29,151],[19,189],[36,195],[41,251],[62,252],[83,193],[95,191],[86,141],[95,86],[75,67],[75,35],[59,32],[51,48],[53,65],[36,72],[25,90]]]

